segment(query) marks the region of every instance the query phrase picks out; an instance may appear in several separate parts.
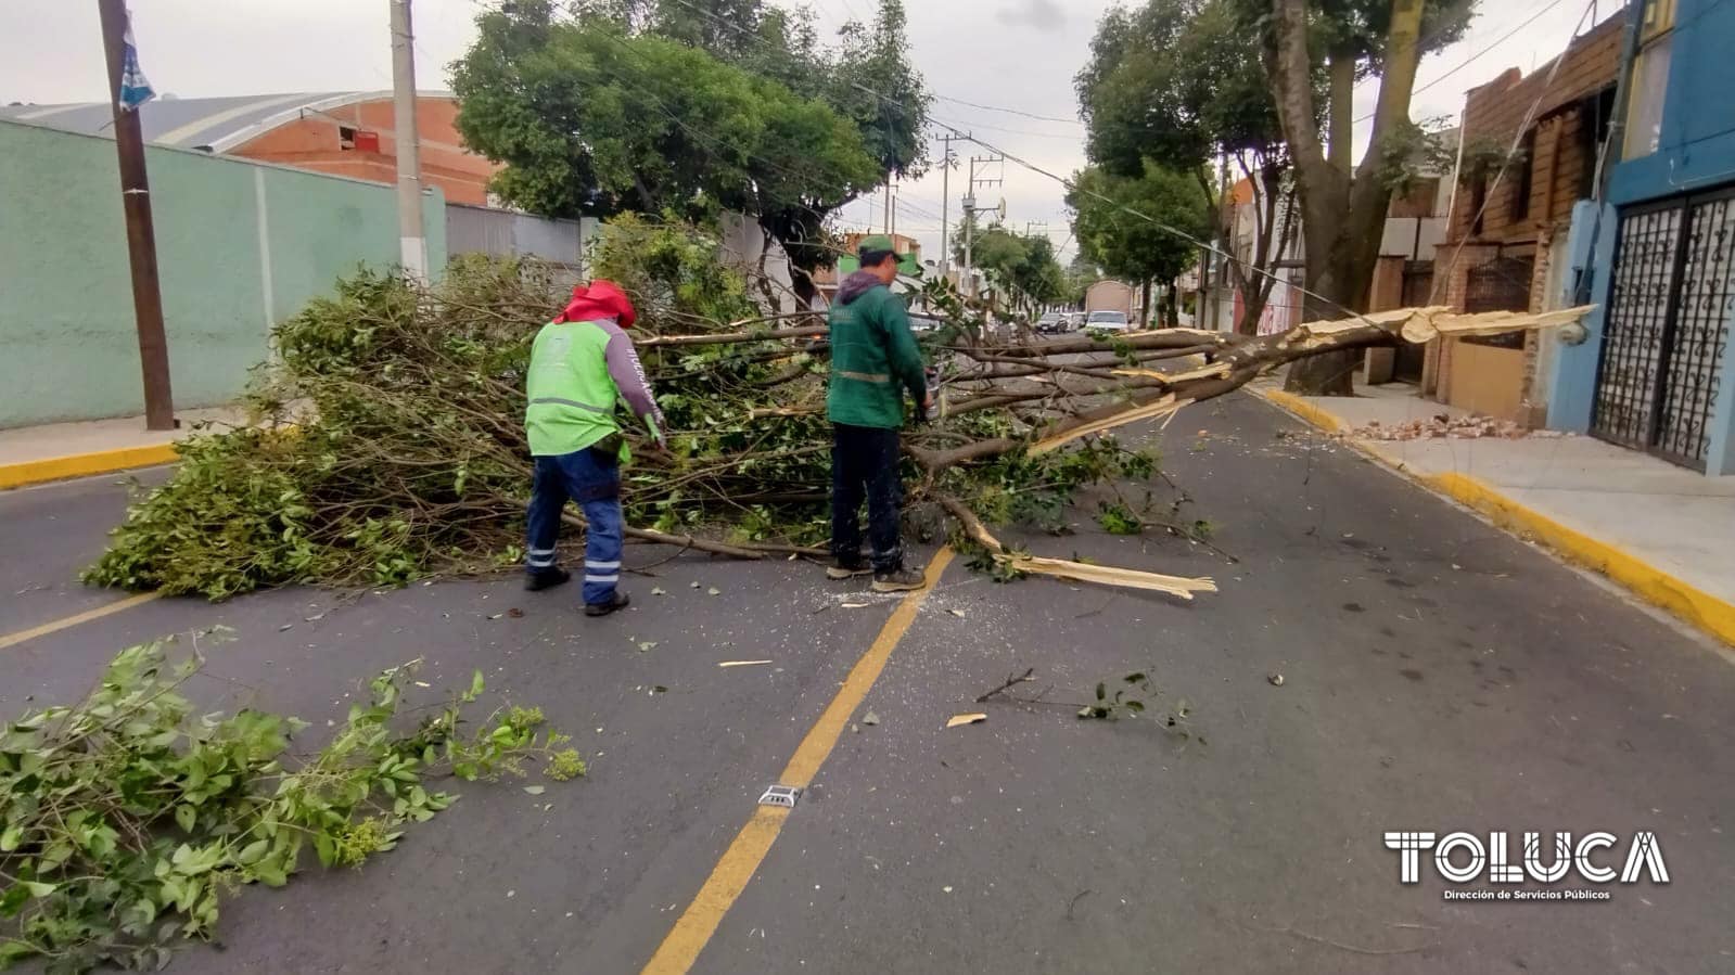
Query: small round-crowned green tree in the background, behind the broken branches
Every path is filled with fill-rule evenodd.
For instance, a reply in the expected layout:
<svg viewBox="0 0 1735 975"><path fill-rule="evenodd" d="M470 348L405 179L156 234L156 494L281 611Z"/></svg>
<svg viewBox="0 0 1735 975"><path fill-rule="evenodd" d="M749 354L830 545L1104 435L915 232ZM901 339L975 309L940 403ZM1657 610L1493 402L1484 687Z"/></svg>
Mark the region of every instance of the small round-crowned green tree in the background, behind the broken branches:
<svg viewBox="0 0 1735 975"><path fill-rule="evenodd" d="M1067 206L1072 208L1072 232L1079 241L1079 255L1116 278L1138 281L1143 286L1147 314L1150 281L1166 283L1166 324L1178 324L1175 279L1192 265L1197 248L1128 210L1161 220L1188 236L1206 236L1211 217L1194 186L1194 177L1149 161L1136 179L1093 167L1072 177Z"/></svg>

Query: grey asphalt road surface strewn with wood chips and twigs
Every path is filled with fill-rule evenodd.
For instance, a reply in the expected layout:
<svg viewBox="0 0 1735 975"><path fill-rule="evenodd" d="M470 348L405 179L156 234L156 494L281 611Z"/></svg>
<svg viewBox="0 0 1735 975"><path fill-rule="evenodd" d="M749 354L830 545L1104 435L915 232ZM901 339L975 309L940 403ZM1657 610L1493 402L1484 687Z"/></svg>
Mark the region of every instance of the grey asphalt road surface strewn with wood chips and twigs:
<svg viewBox="0 0 1735 975"><path fill-rule="evenodd" d="M1031 548L1221 592L996 585L954 564L694 972L1735 970L1726 656L1249 397L1180 415L1162 446L1239 562L1112 538L1088 512ZM0 635L115 599L68 579L121 503L108 481L0 494ZM241 892L222 947L174 970L632 973L895 605L805 564L654 571L606 621L514 579L149 602L0 651L0 713L213 623L236 638L194 694L316 729L382 666L425 659L429 694L479 666L574 732L588 779L465 786L361 871ZM734 659L772 663L717 666ZM1015 692L1041 703L975 703L1027 668ZM1074 715L1129 671L1162 689L1145 717ZM1187 737L1157 720L1182 699ZM1671 883L1444 900L1456 885L1428 862L1402 885L1383 845L1508 831L1516 860L1527 829L1614 833L1615 867L1655 831Z"/></svg>

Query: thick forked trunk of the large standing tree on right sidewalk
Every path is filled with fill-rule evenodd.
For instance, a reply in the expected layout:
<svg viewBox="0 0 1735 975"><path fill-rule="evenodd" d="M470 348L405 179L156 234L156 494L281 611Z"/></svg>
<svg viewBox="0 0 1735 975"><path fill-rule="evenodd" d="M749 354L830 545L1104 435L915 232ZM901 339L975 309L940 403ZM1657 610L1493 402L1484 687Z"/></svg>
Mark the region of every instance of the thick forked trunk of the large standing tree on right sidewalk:
<svg viewBox="0 0 1735 975"><path fill-rule="evenodd" d="M1386 137L1409 121L1411 88L1416 83L1421 0L1391 0L1391 26L1379 80L1379 104L1367 154L1355 168L1332 165L1319 137L1313 106L1313 62L1306 49L1306 0L1272 0L1277 45L1268 59L1277 94L1277 116L1294 156L1296 193L1301 196L1301 227L1306 253L1305 317L1339 317L1367 307L1367 288L1379 258L1391 189L1381 173ZM1334 78L1336 82L1336 78ZM1353 73L1350 76L1353 87ZM1346 99L1345 99L1346 101ZM1336 106L1332 106L1336 116ZM1353 115L1353 113L1352 113ZM1348 125L1345 125L1348 128ZM1332 156L1338 154L1332 139ZM1357 352L1331 352L1301 359L1289 368L1284 389L1312 396L1350 396Z"/></svg>

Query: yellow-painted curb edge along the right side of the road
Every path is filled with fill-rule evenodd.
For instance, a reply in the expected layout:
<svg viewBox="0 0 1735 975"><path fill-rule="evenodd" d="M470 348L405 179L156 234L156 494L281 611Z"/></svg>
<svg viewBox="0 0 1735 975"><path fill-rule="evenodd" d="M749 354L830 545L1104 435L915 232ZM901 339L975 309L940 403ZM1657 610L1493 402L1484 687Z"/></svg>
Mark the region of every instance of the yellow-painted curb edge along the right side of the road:
<svg viewBox="0 0 1735 975"><path fill-rule="evenodd" d="M1343 422L1319 406L1282 390L1253 390L1272 406L1293 413L1300 420L1312 423L1329 434L1343 430ZM1496 527L1535 541L1549 548L1560 559L1598 573L1645 602L1667 609L1686 623L1699 626L1728 645L1735 645L1735 604L1725 602L1643 559L1615 548L1607 541L1591 538L1577 529L1570 529L1555 519L1530 508L1497 488L1456 472L1416 474L1393 463L1379 451L1359 441L1345 441L1364 456L1383 467L1402 474L1409 481L1445 494L1466 508L1487 517Z"/></svg>

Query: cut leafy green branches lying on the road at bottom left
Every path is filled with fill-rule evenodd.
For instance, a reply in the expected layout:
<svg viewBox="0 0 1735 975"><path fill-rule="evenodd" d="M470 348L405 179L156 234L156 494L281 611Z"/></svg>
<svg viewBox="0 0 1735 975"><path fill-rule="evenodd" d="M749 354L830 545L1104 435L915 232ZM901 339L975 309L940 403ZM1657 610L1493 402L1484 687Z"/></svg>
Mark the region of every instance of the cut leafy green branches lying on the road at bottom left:
<svg viewBox="0 0 1735 975"><path fill-rule="evenodd" d="M522 777L533 763L555 781L585 774L536 708L501 708L467 730L481 671L399 730L420 661L390 668L330 744L297 756L305 722L194 713L182 685L203 656L194 645L172 663L167 647L121 651L78 704L0 729L0 968L156 970L177 942L210 939L241 885L288 883L309 847L324 867L394 848L456 798L430 791L432 777Z"/></svg>

